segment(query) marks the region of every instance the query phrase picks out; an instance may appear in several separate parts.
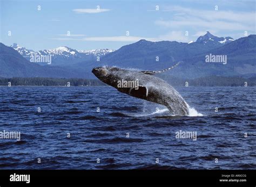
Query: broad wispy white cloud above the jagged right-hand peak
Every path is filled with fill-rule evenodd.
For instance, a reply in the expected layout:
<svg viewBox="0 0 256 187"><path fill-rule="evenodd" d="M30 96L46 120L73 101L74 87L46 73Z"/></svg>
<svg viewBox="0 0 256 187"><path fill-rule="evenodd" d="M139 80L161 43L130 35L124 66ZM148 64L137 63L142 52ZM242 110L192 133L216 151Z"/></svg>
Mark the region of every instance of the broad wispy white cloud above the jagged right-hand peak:
<svg viewBox="0 0 256 187"><path fill-rule="evenodd" d="M199 10L188 9L181 6L173 6L165 11L171 11L174 16L171 20L159 19L155 24L179 28L196 28L197 30L229 30L229 31L254 31L255 30L255 12L233 12L221 10ZM184 15L176 13L183 12ZM255 32L255 31L254 31Z"/></svg>

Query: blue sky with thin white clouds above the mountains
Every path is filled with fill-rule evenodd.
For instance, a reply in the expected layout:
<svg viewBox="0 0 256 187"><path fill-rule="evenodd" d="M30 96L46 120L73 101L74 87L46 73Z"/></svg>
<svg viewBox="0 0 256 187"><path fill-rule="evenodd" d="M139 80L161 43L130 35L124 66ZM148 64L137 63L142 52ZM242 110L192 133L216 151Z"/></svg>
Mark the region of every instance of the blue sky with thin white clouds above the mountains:
<svg viewBox="0 0 256 187"><path fill-rule="evenodd" d="M0 0L0 42L39 51L118 49L140 39L195 41L206 31L256 34L255 0Z"/></svg>

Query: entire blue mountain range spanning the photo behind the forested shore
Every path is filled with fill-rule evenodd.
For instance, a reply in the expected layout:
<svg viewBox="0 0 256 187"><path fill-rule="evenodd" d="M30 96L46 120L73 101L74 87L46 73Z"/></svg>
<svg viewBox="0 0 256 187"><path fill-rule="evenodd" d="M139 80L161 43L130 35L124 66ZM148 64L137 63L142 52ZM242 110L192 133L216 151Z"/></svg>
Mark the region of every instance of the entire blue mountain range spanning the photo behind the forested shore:
<svg viewBox="0 0 256 187"><path fill-rule="evenodd" d="M91 73L93 67L161 70L173 66L178 61L181 61L179 66L166 71L163 76L186 79L212 75L256 75L256 35L234 40L231 37L216 37L207 32L194 42L139 40L116 51L78 51L69 47L58 47L38 52L52 56L52 64L45 66L29 62L28 57L34 52L32 50L17 44L11 47L1 44L0 48L0 77L95 78ZM227 63L207 63L207 55L226 55ZM100 61L96 60L97 56L100 56Z"/></svg>

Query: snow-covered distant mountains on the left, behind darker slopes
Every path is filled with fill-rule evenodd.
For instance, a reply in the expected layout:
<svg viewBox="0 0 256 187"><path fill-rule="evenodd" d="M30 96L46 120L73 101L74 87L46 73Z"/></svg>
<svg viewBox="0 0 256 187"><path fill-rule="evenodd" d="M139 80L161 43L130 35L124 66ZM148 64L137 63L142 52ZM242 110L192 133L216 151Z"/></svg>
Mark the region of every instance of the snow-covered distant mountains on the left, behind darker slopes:
<svg viewBox="0 0 256 187"><path fill-rule="evenodd" d="M19 54L30 60L31 55L51 55L53 65L70 65L78 62L83 62L87 60L95 60L97 56L104 56L113 52L113 49L93 49L93 50L82 50L78 51L66 46L60 46L53 49L44 49L38 52L28 50L25 47L20 47L18 44L11 45ZM43 63L41 63L43 64Z"/></svg>

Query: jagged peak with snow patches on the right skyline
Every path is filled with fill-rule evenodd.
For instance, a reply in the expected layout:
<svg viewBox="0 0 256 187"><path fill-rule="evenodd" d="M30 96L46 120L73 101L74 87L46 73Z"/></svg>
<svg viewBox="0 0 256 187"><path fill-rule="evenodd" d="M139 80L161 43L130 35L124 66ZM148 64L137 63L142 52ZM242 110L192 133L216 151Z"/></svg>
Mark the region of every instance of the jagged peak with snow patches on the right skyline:
<svg viewBox="0 0 256 187"><path fill-rule="evenodd" d="M201 35L196 42L206 44L207 42L219 42L220 44L228 44L234 41L231 37L216 37L215 35L211 34L209 31L205 35Z"/></svg>

